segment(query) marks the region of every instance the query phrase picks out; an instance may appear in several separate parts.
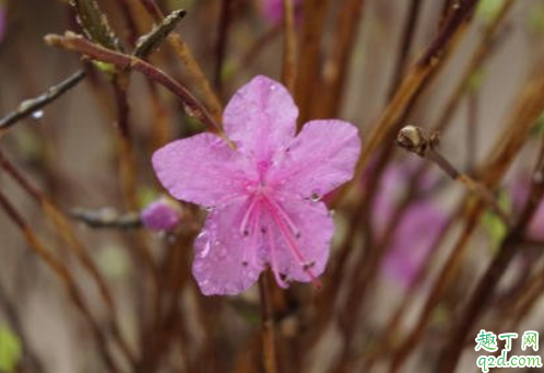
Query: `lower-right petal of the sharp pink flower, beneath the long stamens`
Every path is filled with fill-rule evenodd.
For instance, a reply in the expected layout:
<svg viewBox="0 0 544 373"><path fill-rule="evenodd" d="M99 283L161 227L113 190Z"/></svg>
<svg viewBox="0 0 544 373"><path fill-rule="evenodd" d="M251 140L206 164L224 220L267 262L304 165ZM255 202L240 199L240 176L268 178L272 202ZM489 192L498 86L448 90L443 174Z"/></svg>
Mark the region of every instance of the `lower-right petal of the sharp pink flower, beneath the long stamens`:
<svg viewBox="0 0 544 373"><path fill-rule="evenodd" d="M327 207L301 198L272 203L275 207L269 207L263 214L269 237L273 241L268 243L268 261L272 270L287 280L314 281L314 277L324 270L334 231Z"/></svg>

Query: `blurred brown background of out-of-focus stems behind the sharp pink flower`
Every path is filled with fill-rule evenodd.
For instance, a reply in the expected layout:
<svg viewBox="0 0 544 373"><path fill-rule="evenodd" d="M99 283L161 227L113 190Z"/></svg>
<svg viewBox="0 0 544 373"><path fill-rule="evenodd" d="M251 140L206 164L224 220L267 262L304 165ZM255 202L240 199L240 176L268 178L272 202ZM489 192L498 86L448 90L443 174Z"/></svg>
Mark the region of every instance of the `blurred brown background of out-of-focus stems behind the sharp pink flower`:
<svg viewBox="0 0 544 373"><path fill-rule="evenodd" d="M126 53L155 22L146 1L97 3ZM222 105L256 74L282 79L281 3L156 1L165 14L187 11L174 34ZM300 88L304 80L295 84L297 103L304 97L303 120L348 120L360 129L365 147L409 67L440 32L448 7L458 3L462 1L294 1L297 58L314 60L317 67L315 86ZM304 37L308 14L319 18L319 11L308 11L311 7L323 10L316 21L317 49L305 47L310 43ZM356 10L356 16L350 16L350 10ZM184 113L172 93L133 72L125 95L130 132L123 132L123 94L116 93L115 73L44 42L47 34L82 33L75 14L62 0L0 0L0 117L78 70L86 73L69 92L0 135L2 159L39 190L39 197L26 193L5 164L0 172L2 194L70 272L67 280L51 270L28 234L0 212L0 372L263 371L257 289L235 298L204 298L190 273L192 240L205 213L168 201L180 219L175 228L155 232L140 226L141 211L166 198L151 167L152 152L205 128ZM402 125L441 128L441 154L477 179L517 113L520 92L539 71L544 73L544 1L482 0L461 27L453 46L437 57L439 66ZM352 43L340 43L345 32ZM345 63L338 62L339 54ZM165 40L150 62L208 103L201 77L194 77L182 56ZM310 65L297 65L298 77L307 75L304 69ZM534 121L507 175L493 187L512 217L527 198L543 131L544 123ZM403 349L402 340L422 317L463 230L458 211L469 202L462 183L416 154L390 149L388 161L380 162L392 143L389 139L374 153L371 164L352 182L352 194L334 206L336 232L324 289L294 284L286 293L272 291L280 372L438 372L462 305L508 232L492 210L482 211L462 260L425 317L425 328ZM362 197L367 203L360 207L358 195L371 196ZM66 217L70 234L96 267L115 313L90 276L90 266L75 254L78 245L55 224L49 202ZM93 225L95 220L105 226ZM458 372L478 371L475 362L482 353L474 352L473 340L481 328L520 336L523 330L544 330L543 208L528 231L523 253L512 259L465 340ZM84 307L78 306L80 298ZM392 368L394 359L399 366Z"/></svg>

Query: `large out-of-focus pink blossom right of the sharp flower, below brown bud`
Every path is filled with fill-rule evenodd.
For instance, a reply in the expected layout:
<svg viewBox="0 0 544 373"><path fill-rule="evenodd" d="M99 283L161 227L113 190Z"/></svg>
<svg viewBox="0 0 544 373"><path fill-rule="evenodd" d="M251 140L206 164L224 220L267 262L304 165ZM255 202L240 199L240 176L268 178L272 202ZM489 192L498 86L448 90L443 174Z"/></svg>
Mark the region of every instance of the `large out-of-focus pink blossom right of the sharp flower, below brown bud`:
<svg viewBox="0 0 544 373"><path fill-rule="evenodd" d="M414 170L407 166L391 166L386 171L379 193L372 206L378 235L383 237L399 207L400 196L405 191ZM425 175L419 188L428 190L436 183L431 175ZM422 269L435 241L447 223L447 217L428 199L421 199L406 208L392 236L382 263L383 273L400 287L409 288Z"/></svg>

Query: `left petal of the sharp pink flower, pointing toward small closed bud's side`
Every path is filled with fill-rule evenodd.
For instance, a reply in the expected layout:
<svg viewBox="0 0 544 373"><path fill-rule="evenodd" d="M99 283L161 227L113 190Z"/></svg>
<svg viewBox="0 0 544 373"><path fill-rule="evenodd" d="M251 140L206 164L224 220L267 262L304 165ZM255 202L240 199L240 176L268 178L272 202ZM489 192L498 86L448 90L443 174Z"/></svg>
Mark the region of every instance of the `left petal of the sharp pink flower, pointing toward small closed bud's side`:
<svg viewBox="0 0 544 373"><path fill-rule="evenodd" d="M209 207L240 195L246 179L241 162L211 133L170 142L153 154L157 177L175 198Z"/></svg>

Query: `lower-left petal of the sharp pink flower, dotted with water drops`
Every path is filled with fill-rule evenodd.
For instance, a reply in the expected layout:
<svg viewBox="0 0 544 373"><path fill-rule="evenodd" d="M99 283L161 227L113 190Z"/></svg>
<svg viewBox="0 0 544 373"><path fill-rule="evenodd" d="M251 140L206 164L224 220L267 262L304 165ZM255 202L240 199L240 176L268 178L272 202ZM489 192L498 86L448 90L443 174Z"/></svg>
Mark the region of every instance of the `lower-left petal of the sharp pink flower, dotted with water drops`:
<svg viewBox="0 0 544 373"><path fill-rule="evenodd" d="M194 241L192 273L204 295L238 294L263 270L259 230L247 236L239 230L247 209L247 200L237 200L212 210Z"/></svg>

